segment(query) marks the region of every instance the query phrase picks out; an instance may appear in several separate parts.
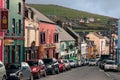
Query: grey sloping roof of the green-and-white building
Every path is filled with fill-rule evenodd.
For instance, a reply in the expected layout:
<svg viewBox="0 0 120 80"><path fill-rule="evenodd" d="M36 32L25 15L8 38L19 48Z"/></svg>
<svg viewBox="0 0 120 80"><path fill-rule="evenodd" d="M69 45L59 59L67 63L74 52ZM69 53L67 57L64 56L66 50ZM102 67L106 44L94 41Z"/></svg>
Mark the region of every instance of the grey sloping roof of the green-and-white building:
<svg viewBox="0 0 120 80"><path fill-rule="evenodd" d="M75 39L70 36L64 29L56 26L57 32L59 33L60 41L75 41Z"/></svg>

